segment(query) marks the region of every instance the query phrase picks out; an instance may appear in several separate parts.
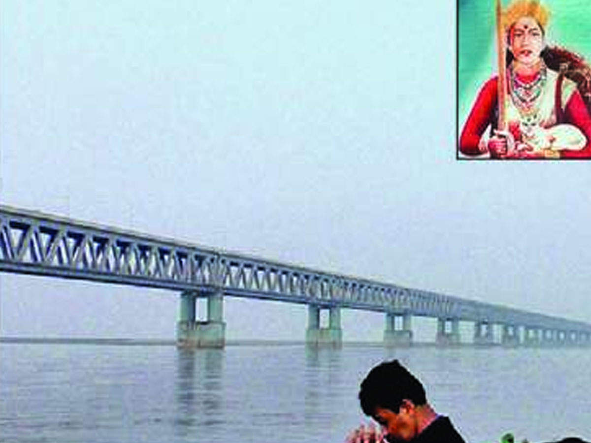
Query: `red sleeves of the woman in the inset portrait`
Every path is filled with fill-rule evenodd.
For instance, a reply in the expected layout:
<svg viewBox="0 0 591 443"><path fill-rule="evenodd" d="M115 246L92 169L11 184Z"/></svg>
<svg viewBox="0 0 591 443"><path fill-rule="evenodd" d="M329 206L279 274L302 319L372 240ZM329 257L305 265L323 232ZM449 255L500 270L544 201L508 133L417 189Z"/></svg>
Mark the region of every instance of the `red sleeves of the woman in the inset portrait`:
<svg viewBox="0 0 591 443"><path fill-rule="evenodd" d="M497 76L488 80L480 90L476 102L460 136L460 152L482 154L478 148L480 137L495 120L497 107ZM562 123L570 123L583 132L587 143L583 149L560 149L560 158L591 158L591 116L578 90L574 90L562 111Z"/></svg>

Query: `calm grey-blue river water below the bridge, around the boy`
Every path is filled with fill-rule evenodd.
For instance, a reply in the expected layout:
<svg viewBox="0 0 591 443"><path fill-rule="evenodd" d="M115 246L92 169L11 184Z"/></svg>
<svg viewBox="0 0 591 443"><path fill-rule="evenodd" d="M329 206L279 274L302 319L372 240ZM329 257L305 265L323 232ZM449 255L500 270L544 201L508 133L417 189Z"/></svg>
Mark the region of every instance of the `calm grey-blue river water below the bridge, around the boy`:
<svg viewBox="0 0 591 443"><path fill-rule="evenodd" d="M0 441L342 442L391 358L467 441L591 438L589 349L0 344Z"/></svg>

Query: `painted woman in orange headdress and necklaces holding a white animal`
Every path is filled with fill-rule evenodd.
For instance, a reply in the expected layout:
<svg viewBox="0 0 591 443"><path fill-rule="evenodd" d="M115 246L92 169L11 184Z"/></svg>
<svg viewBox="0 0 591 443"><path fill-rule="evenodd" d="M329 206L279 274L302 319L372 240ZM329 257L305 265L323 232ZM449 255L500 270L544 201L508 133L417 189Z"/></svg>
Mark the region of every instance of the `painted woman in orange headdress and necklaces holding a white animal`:
<svg viewBox="0 0 591 443"><path fill-rule="evenodd" d="M495 76L480 90L466 120L459 141L463 154L591 158L591 69L576 54L546 45L548 17L547 8L535 0L517 0L502 14L506 126L496 127ZM491 136L486 140L482 135L489 126Z"/></svg>

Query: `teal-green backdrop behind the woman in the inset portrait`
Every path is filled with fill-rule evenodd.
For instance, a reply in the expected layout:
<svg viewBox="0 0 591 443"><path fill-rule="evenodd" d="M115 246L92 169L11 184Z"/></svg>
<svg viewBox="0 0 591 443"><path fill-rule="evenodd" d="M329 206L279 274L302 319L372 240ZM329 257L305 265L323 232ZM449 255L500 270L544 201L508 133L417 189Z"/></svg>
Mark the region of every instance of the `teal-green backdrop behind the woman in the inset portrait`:
<svg viewBox="0 0 591 443"><path fill-rule="evenodd" d="M509 1L502 0L505 8ZM549 45L557 44L591 59L591 0L547 0ZM458 0L459 131L482 84L496 74L495 1Z"/></svg>

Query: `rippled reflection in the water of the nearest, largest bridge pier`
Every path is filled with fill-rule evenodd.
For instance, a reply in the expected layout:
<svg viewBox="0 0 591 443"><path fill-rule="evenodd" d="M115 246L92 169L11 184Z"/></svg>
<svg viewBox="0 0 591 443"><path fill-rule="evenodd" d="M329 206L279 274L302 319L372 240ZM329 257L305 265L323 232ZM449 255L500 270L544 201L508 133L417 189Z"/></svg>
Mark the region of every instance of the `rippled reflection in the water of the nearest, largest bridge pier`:
<svg viewBox="0 0 591 443"><path fill-rule="evenodd" d="M210 436L211 426L223 423L224 353L221 349L178 349L176 381L177 435Z"/></svg>

